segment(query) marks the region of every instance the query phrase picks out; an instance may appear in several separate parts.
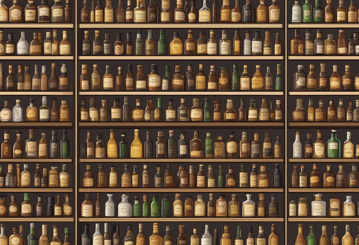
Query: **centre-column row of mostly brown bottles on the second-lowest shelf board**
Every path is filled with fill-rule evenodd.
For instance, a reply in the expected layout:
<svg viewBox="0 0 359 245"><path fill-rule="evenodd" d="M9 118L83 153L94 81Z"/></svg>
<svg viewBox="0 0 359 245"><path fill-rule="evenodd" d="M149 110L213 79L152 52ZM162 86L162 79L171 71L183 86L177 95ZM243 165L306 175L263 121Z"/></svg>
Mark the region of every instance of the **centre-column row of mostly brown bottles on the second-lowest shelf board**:
<svg viewBox="0 0 359 245"><path fill-rule="evenodd" d="M246 164L241 164L241 172L238 174L238 184L236 174L233 173L233 166L228 167L228 173L223 173L223 166L219 165L219 173L216 176L213 173L212 165L208 165L208 174L204 172L203 164L199 164L199 172L194 173L194 166L190 165L190 172L187 173L186 166L178 167L177 175L175 176L170 169L170 164L166 164L165 173L161 173L161 165L157 165L156 174L150 177L148 171L148 165L143 165L143 172L140 174L137 172L137 165L134 165L134 171L131 174L129 171L129 164L125 163L125 169L121 176L117 175L115 165L111 165L111 171L108 176L104 171L104 165L98 165L98 173L95 178L91 172L91 165L86 165L86 172L82 176L82 186L91 187L143 187L150 188L154 186L156 188L204 188L204 187L251 187L251 188L279 188L283 185L283 177L279 171L279 164L275 165L275 172L273 174L273 181L269 173L266 171L266 166L261 165L259 173L257 172L256 164L252 164L252 171L248 174L246 171ZM1 176L1 175L0 175ZM108 183L107 183L108 179ZM95 181L96 180L96 181ZM150 184L150 181L152 182ZM273 182L273 183L272 183Z"/></svg>

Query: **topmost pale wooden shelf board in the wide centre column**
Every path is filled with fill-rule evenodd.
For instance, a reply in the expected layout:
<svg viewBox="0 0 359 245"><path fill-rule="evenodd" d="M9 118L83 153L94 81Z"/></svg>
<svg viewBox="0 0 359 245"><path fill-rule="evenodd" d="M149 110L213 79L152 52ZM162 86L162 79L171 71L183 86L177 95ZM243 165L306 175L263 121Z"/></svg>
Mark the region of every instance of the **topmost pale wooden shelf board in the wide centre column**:
<svg viewBox="0 0 359 245"><path fill-rule="evenodd" d="M283 28L281 23L81 23L79 28Z"/></svg>

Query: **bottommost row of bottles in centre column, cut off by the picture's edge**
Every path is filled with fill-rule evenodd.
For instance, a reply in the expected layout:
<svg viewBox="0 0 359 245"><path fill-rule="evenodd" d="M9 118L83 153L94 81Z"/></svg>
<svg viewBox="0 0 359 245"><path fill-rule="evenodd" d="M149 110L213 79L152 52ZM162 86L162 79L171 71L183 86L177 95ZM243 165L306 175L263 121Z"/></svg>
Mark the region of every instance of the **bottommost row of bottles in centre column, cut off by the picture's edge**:
<svg viewBox="0 0 359 245"><path fill-rule="evenodd" d="M90 245L90 244L113 244L120 245L120 226L111 225L110 232L108 231L108 223L104 223L104 235L101 234L100 224L95 225L95 232L92 235L89 230L89 224L84 224L84 233L81 234L81 245ZM178 225L179 234L176 239L173 239L171 235L171 227L166 226L166 235L162 237L159 234L158 223L153 223L153 233L149 236L149 243L154 245L225 245L225 244L267 244L276 245L279 244L279 235L275 231L275 224L272 224L271 234L267 237L264 235L264 226L258 227L258 236L253 237L253 227L250 226L248 229L248 238L246 240L242 237L242 226L237 225L237 237L232 241L229 234L229 225L222 225L222 237L218 234L218 229L214 229L214 234L212 235L209 231L209 225L205 225L205 231L202 236L197 234L197 228L193 228L193 234L188 237L185 234L186 225ZM127 234L123 237L123 244L136 244L144 245L146 244L146 235L149 233L147 230L143 229L143 224L139 224L139 232L134 236L132 233L132 225L127 225ZM126 233L126 232L125 232ZM256 242L256 243L255 243Z"/></svg>

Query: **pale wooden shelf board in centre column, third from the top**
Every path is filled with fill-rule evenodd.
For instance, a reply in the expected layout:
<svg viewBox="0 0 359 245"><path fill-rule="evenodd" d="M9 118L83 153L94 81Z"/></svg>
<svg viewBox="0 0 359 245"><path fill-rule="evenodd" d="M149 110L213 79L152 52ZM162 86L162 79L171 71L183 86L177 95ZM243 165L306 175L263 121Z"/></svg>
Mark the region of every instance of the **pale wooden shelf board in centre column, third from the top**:
<svg viewBox="0 0 359 245"><path fill-rule="evenodd" d="M358 92L359 94L359 92ZM82 91L79 95L284 95L280 91Z"/></svg>

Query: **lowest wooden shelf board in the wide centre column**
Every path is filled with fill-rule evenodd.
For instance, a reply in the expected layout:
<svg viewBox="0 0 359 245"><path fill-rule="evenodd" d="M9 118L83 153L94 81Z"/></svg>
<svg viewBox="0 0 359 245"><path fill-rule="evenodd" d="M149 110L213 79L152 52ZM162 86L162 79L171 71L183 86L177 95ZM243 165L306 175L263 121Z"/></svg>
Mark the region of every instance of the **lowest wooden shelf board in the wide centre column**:
<svg viewBox="0 0 359 245"><path fill-rule="evenodd" d="M359 220L359 218L358 218ZM284 218L274 218L274 217L268 217L268 218L231 218L231 217L199 217L199 218L182 218L182 217L168 217L168 218L161 218L161 217L157 217L157 218L145 218L145 217L141 217L141 218L134 218L134 217L129 217L129 218L122 218L122 217L106 217L106 218L79 218L79 222L146 222L146 221L150 221L150 222L158 222L158 221L163 221L163 222L201 222L201 221L206 221L206 222L283 222Z"/></svg>

